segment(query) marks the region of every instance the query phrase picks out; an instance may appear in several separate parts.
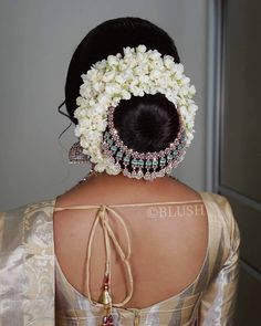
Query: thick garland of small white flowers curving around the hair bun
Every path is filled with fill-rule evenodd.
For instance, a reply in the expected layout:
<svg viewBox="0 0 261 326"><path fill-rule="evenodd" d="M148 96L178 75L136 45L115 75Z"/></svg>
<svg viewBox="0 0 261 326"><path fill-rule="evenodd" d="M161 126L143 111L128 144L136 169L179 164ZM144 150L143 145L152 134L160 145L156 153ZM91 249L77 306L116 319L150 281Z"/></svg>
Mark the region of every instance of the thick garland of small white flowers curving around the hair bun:
<svg viewBox="0 0 261 326"><path fill-rule="evenodd" d="M80 138L83 153L96 164L95 171L118 173L102 151L103 133L107 126L108 107L116 107L121 99L129 99L132 95L165 94L181 115L186 147L190 145L198 109L192 99L196 90L185 76L182 64L175 63L173 56L161 56L157 50L147 51L145 45L128 46L124 48L124 55L108 55L107 60L96 62L81 77L81 96L76 98L77 108L74 112L79 122L75 136Z"/></svg>

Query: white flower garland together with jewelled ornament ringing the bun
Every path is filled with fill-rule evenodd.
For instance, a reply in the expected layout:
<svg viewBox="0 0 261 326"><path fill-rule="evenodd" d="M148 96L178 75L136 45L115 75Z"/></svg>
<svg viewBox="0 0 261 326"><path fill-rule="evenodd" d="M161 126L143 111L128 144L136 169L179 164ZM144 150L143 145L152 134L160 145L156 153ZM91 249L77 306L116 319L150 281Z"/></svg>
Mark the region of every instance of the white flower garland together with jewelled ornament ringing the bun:
<svg viewBox="0 0 261 326"><path fill-rule="evenodd" d="M117 175L123 170L127 177L153 180L170 173L184 159L194 138L198 106L192 99L195 86L184 74L182 64L145 45L128 46L123 55L117 53L96 62L82 80L74 112L79 122L75 136L80 138L83 155L95 164L95 171ZM180 123L178 136L159 153L134 151L118 138L113 112L121 99L156 93L175 104Z"/></svg>

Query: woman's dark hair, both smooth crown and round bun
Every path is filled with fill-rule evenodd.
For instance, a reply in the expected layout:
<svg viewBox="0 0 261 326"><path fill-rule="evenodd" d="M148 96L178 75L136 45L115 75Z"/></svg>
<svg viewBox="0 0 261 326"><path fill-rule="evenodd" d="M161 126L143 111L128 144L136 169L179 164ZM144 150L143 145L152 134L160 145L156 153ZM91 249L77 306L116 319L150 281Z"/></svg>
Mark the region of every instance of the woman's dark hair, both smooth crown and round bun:
<svg viewBox="0 0 261 326"><path fill-rule="evenodd" d="M171 55L180 63L173 39L159 27L140 18L117 18L107 20L87 33L73 53L65 83L65 105L71 120L77 124L73 114L76 97L92 64L109 54L123 54L123 48L146 45L163 55ZM158 151L173 143L179 130L179 117L175 105L165 95L132 96L121 101L114 114L115 128L121 139L137 151Z"/></svg>

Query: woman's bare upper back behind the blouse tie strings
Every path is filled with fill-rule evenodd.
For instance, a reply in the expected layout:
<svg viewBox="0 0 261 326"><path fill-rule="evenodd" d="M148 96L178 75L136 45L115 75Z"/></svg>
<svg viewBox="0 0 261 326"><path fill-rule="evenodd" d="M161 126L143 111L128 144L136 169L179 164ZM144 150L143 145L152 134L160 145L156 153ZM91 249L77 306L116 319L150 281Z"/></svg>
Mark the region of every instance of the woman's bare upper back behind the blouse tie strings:
<svg viewBox="0 0 261 326"><path fill-rule="evenodd" d="M171 178L137 182L118 177L91 177L59 197L56 207L201 200L197 191ZM134 293L125 307L143 308L166 299L187 287L198 275L206 255L208 220L202 203L189 207L179 203L115 208L127 225L132 244L129 263ZM81 293L95 213L95 209L54 213L55 253L67 281ZM113 217L109 222L119 243L126 249L123 227ZM100 225L91 261L91 293L94 301L101 295L104 269L105 246ZM126 296L126 271L113 248L112 292L114 302L121 302Z"/></svg>

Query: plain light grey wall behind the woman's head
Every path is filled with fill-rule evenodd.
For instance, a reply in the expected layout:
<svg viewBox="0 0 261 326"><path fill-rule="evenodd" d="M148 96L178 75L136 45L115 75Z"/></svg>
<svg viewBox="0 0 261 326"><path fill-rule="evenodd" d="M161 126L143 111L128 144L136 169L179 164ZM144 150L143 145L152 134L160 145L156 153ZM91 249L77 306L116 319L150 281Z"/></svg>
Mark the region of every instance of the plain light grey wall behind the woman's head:
<svg viewBox="0 0 261 326"><path fill-rule="evenodd" d="M150 20L176 42L199 111L174 175L206 189L207 0L1 0L0 210L51 199L87 173L90 166L67 164L76 138L71 126L58 140L69 120L56 108L77 44L98 23L126 15Z"/></svg>

